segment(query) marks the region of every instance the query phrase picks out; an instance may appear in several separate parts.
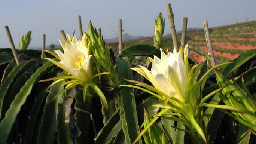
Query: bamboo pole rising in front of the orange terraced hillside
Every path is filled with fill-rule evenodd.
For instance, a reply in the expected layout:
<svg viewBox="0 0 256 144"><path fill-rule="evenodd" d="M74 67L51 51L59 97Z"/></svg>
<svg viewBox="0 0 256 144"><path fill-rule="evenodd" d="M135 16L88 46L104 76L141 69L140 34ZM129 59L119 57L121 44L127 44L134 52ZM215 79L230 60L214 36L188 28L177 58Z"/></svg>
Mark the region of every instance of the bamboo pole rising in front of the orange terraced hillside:
<svg viewBox="0 0 256 144"><path fill-rule="evenodd" d="M213 53L213 46L211 45L211 37L210 37L208 22L204 21L203 24L204 24L205 39L206 39L208 51L210 54L211 66L214 67L216 65L216 62L215 62L214 53Z"/></svg>

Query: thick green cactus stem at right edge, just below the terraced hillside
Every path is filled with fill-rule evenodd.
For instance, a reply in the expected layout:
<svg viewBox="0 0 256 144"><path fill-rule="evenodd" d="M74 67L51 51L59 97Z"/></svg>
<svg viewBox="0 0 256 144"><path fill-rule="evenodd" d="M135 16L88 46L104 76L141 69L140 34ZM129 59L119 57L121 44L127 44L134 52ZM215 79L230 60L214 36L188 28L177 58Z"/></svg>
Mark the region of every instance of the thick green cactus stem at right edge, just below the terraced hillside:
<svg viewBox="0 0 256 144"><path fill-rule="evenodd" d="M245 62L247 62L249 59L256 56L256 49L248 50L245 53L238 56L236 59L233 60L235 63L231 63L226 65L225 68L223 68L222 73L225 77L228 77L233 71L235 71L238 67L243 65Z"/></svg>

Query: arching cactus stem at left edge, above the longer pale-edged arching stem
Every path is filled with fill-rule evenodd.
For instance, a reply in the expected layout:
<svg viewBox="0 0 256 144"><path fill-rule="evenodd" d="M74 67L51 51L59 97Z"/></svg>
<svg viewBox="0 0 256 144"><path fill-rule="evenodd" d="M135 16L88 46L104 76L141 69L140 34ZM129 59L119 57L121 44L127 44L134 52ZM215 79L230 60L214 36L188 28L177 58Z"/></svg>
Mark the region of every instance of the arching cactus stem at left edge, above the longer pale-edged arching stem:
<svg viewBox="0 0 256 144"><path fill-rule="evenodd" d="M6 77L4 82L1 85L0 88L0 116L1 116L1 111L3 107L3 101L6 99L6 95L9 93L10 89L12 88L13 83L15 80L22 74L24 73L31 65L35 64L35 60L30 60L30 61L24 61L21 62L17 67L15 67L12 72Z"/></svg>

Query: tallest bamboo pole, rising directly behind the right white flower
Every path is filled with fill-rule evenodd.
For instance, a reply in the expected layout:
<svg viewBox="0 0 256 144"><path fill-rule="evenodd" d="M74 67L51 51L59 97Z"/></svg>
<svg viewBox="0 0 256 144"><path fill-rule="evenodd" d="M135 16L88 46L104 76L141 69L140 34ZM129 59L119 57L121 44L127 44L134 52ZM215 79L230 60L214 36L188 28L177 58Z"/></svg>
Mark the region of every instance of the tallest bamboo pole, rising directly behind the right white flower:
<svg viewBox="0 0 256 144"><path fill-rule="evenodd" d="M168 19L169 19L170 26L171 26L171 37L173 39L173 46L178 51L179 47L178 47L176 30L175 30L174 19L173 19L174 15L173 15L173 10L171 9L170 3L166 4L166 9L167 9L167 15L168 15Z"/></svg>

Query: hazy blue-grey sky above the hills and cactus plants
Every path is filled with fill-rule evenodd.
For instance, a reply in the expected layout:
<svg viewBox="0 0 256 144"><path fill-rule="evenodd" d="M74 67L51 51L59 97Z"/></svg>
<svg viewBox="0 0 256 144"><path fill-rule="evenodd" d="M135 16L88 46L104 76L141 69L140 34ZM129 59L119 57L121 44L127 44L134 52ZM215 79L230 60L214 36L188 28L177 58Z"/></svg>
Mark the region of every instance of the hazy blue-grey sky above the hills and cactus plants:
<svg viewBox="0 0 256 144"><path fill-rule="evenodd" d="M27 31L32 30L30 46L58 44L59 31L79 36L77 16L82 17L83 30L91 20L101 27L105 39L116 37L118 19L122 18L124 33L133 36L153 36L153 25L159 12L165 18L165 34L170 33L165 4L171 3L176 31L182 29L183 17L188 28L203 28L256 20L256 0L1 0L0 48L9 47L4 29L9 26L16 48Z"/></svg>

